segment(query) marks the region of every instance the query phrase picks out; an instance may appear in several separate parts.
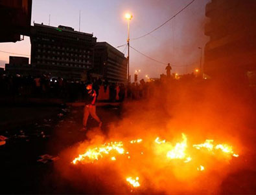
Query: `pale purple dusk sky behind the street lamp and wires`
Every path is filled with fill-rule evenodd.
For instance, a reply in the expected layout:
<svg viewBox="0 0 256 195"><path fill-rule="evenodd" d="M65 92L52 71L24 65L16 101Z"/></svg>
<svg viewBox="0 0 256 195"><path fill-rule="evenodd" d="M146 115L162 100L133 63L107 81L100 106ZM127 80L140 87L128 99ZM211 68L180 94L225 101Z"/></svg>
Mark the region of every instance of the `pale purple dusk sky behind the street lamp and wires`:
<svg viewBox="0 0 256 195"><path fill-rule="evenodd" d="M51 26L65 25L79 30L79 11L81 12L81 32L93 33L97 41L106 41L113 46L126 43L127 21L124 14L133 15L130 22L130 45L146 56L163 63L170 63L172 72L191 73L200 65L200 49L208 37L204 36L205 5L209 0L196 0L152 34L143 36L175 15L191 0L33 0L31 25L44 23ZM121 52L125 46L118 48ZM30 39L17 43L0 43L0 51L30 55ZM126 50L127 55L127 50ZM0 67L5 67L9 56L0 52ZM139 79L148 74L159 77L165 73L166 65L152 61L130 49L130 74L141 69Z"/></svg>

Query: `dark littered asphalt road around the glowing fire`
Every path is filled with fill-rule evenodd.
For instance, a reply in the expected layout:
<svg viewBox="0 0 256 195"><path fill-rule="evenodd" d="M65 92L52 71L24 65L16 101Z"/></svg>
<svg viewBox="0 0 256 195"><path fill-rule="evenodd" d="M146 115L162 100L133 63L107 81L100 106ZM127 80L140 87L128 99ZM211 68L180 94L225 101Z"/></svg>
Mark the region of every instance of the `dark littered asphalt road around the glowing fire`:
<svg viewBox="0 0 256 195"><path fill-rule="evenodd" d="M20 114L20 118L26 118L25 123L1 129L0 135L8 138L5 145L0 146L1 194L163 194L154 189L130 192L127 187L94 177L89 168L84 170L88 171L88 180L86 176L83 178L80 169L69 166L62 152L89 139L86 132L80 132L83 107L17 108L23 112L22 109L30 113L31 120ZM15 108L12 110L14 114ZM107 135L110 123L117 123L122 118L122 107L98 107L97 114L103 121L100 132ZM32 118L33 115L37 117ZM97 129L97 125L90 118L88 131ZM42 156L45 154L49 156ZM246 158L241 159L246 163ZM253 165L251 161L247 163ZM111 169L97 171L111 174ZM76 179L64 176L65 172L73 172ZM233 172L222 182L220 194L255 194L255 176L253 169Z"/></svg>

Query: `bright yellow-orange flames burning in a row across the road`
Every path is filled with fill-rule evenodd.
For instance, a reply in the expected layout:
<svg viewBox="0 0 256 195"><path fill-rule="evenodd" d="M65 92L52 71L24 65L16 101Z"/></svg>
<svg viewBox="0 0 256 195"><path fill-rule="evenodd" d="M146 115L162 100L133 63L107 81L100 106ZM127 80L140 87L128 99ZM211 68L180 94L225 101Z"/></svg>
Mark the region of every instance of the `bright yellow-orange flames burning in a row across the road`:
<svg viewBox="0 0 256 195"><path fill-rule="evenodd" d="M235 154L233 152L233 147L227 144L214 144L213 139L206 139L204 143L201 144L188 144L187 136L185 134L182 135L182 140L178 143L170 143L170 141L165 141L165 139L160 139L157 137L153 140L146 140L146 147L145 145L134 144L134 143L142 143L143 139L133 139L131 141L111 141L110 143L104 143L100 147L89 148L87 149L84 154L78 155L77 158L73 159L71 163L76 165L78 162L82 163L93 163L99 159L103 159L104 156L110 155L111 161L115 161L118 163L121 161L119 165L126 166L128 165L129 169L132 171L138 171L139 168L134 168L133 161L142 161L147 157L150 156L150 163L152 158L152 163L154 162L153 158L156 159L157 163L161 161L161 163L166 163L163 166L169 166L170 161L182 160L181 163L187 163L187 166L190 166L189 169L191 170L205 170L203 165L196 165L196 163L204 163L202 161L202 154L207 154L205 152L201 152L202 154L197 154L197 150L205 150L210 152L212 156L219 155L219 152L223 152L228 156L239 157L239 154ZM149 145L148 145L149 143ZM152 147L150 147L152 145ZM116 158L117 155L123 155L124 158ZM135 156L134 156L135 155ZM143 157L141 157L141 155ZM145 157L144 157L145 156ZM223 158L223 156L220 156ZM166 159L166 160L165 160ZM124 161L122 161L124 160ZM193 161L191 163L191 161ZM178 163L177 165L180 165ZM176 166L176 165L175 165ZM128 167L124 167L124 171L127 171L125 175L128 174ZM139 187L139 178L136 177L135 179L132 177L127 177L126 181L132 187Z"/></svg>

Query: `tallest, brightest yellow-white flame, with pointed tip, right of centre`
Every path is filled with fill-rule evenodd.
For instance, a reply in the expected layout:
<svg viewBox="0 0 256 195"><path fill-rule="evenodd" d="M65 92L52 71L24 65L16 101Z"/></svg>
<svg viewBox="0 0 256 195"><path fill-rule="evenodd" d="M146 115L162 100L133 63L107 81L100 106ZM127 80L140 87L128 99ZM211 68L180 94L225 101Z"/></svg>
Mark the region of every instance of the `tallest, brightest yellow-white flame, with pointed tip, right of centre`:
<svg viewBox="0 0 256 195"><path fill-rule="evenodd" d="M185 150L187 149L187 137L182 134L183 141L181 143L176 143L174 149L167 152L167 158L170 159L183 159L186 157Z"/></svg>

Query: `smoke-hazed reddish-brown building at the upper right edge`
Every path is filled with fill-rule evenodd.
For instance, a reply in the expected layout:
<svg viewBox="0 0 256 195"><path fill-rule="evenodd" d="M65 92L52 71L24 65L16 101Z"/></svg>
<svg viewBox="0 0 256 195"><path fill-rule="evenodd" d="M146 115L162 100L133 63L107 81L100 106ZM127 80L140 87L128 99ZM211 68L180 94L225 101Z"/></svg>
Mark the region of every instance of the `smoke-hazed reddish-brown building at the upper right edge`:
<svg viewBox="0 0 256 195"><path fill-rule="evenodd" d="M205 7L204 72L246 81L256 70L256 1L212 0Z"/></svg>

